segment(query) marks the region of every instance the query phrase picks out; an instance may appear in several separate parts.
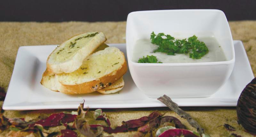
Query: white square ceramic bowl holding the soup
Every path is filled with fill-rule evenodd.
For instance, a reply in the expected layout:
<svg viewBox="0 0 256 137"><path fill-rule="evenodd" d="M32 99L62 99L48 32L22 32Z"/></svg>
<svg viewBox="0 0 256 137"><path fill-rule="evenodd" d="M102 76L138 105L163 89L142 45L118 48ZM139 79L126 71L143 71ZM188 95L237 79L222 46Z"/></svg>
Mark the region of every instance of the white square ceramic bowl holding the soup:
<svg viewBox="0 0 256 137"><path fill-rule="evenodd" d="M138 39L163 32L173 37L215 37L227 61L204 63L136 63L132 52ZM221 10L151 10L127 17L126 50L132 79L148 97L208 97L229 78L235 51L227 18Z"/></svg>

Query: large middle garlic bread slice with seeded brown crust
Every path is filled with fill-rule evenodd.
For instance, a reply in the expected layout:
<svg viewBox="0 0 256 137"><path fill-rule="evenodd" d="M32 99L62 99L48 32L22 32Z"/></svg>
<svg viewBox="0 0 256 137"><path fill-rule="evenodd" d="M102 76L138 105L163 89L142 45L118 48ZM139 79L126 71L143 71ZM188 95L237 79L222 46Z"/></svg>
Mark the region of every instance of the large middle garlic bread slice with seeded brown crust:
<svg viewBox="0 0 256 137"><path fill-rule="evenodd" d="M41 84L66 94L84 94L108 87L126 71L124 53L116 47L107 47L85 58L80 68L74 72L49 76L46 71ZM47 83L47 79L54 84Z"/></svg>

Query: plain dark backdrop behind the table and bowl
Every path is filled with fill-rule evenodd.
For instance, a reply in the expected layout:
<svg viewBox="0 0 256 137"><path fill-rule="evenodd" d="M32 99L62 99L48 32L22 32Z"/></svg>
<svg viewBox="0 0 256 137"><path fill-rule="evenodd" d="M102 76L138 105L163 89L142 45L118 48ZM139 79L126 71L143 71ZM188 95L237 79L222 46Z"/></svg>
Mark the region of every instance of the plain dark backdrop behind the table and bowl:
<svg viewBox="0 0 256 137"><path fill-rule="evenodd" d="M228 20L256 20L256 0L0 0L0 21L125 21L132 11L219 9Z"/></svg>

